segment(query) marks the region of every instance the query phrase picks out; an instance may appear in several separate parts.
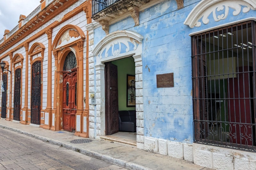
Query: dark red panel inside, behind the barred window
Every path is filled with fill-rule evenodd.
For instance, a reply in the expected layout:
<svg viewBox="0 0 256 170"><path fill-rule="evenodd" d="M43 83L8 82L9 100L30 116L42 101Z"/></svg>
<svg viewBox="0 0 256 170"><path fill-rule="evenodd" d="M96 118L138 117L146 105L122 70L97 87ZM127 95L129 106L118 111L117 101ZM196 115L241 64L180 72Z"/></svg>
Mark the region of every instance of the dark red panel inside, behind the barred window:
<svg viewBox="0 0 256 170"><path fill-rule="evenodd" d="M245 73L243 73L243 71ZM230 142L252 145L252 113L250 104L250 75L247 66L238 67L237 78L229 78L229 131ZM240 73L241 72L241 73ZM234 122L234 123L232 123Z"/></svg>

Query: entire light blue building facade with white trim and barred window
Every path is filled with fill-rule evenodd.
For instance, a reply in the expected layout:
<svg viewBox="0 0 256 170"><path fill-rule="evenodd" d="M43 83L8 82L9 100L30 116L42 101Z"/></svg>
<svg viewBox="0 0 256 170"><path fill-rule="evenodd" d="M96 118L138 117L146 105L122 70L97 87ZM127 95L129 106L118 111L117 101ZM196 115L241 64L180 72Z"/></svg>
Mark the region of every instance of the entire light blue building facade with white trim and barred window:
<svg viewBox="0 0 256 170"><path fill-rule="evenodd" d="M255 81L253 76L251 81L245 77L255 74L256 3L164 0L129 8L119 15L113 6L112 15L106 10L96 12L92 14L95 22L86 26L89 91L95 94L90 100L89 136L115 133L112 114L136 110L137 148L209 168L254 169ZM108 63L117 66L116 101L111 100L111 83L108 86ZM157 76L163 74L172 74L168 81L173 86L157 87L164 82ZM127 104L127 75L136 82L132 107ZM252 86L237 83L242 90L236 89L239 77Z"/></svg>

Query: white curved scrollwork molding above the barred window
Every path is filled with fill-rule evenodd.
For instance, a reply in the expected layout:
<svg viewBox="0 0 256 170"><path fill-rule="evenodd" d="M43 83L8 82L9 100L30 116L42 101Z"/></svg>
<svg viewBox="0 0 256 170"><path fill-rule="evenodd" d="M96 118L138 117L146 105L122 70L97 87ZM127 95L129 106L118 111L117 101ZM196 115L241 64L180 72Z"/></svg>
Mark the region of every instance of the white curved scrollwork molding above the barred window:
<svg viewBox="0 0 256 170"><path fill-rule="evenodd" d="M256 10L255 0L202 0L193 10L188 14L188 17L184 21L185 25L190 28L194 26L200 27L202 18L204 24L209 23L209 15L213 15L214 21L220 21L228 17L229 8L232 8L233 16L238 15L241 11L243 13L249 12L251 9ZM217 15L216 11L220 14ZM222 12L222 13L221 13Z"/></svg>

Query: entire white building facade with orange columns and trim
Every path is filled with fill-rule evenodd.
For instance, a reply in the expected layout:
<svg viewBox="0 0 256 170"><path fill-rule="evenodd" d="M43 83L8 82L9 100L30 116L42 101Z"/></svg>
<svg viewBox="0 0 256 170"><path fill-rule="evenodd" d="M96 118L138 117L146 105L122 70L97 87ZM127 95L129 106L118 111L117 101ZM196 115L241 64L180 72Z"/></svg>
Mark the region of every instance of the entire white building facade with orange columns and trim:
<svg viewBox="0 0 256 170"><path fill-rule="evenodd" d="M89 137L91 2L40 3L0 40L1 119Z"/></svg>

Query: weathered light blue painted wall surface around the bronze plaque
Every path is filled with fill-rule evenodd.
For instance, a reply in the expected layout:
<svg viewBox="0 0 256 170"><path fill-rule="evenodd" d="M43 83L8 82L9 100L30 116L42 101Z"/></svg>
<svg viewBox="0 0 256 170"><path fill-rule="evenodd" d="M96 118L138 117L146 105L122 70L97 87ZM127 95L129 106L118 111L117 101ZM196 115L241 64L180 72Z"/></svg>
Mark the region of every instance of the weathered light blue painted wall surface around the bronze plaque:
<svg viewBox="0 0 256 170"><path fill-rule="evenodd" d="M239 19L256 16L256 11L190 28L183 24L198 0L185 0L184 8L177 9L176 1L164 1L140 12L140 25L134 27L131 17L110 26L109 32L130 30L140 33L142 41L144 135L179 141L193 142L193 110L191 80L191 37L189 33L204 30ZM105 37L100 28L94 30L94 43ZM148 68L145 66L148 66ZM174 87L156 88L156 75L173 73Z"/></svg>

